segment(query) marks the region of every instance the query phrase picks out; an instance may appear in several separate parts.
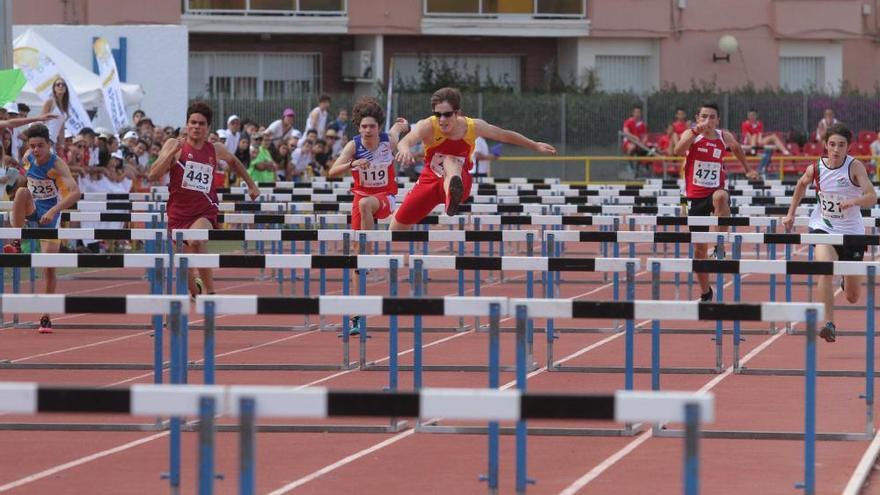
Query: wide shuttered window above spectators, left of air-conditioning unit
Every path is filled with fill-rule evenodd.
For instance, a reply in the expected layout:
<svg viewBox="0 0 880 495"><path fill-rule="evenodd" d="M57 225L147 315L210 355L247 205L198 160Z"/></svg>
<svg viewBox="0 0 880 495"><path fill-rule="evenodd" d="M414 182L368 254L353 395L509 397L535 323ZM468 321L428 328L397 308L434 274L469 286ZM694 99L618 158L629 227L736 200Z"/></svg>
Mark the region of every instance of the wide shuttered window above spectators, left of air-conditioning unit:
<svg viewBox="0 0 880 495"><path fill-rule="evenodd" d="M189 56L190 98L275 99L321 91L316 53L215 53Z"/></svg>

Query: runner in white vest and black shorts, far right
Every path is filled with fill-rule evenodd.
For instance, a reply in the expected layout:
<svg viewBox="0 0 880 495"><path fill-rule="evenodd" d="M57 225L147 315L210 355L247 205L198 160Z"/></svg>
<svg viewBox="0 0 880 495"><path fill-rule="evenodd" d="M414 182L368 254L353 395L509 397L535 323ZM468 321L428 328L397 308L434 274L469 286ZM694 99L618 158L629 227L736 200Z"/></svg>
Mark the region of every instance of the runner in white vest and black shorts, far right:
<svg viewBox="0 0 880 495"><path fill-rule="evenodd" d="M810 232L816 234L855 234L865 235L861 208L871 208L877 204L874 190L865 165L847 154L852 142L852 131L845 125L831 124L825 130L826 157L808 167L798 180L788 215L782 219L786 230L794 226L794 214L810 184L816 188L819 202L810 214ZM864 246L816 246L816 259L820 261L862 261ZM826 342L837 340L837 327L834 325L834 292L831 275L819 276L819 295L825 304L827 323L819 331ZM862 277L846 275L840 283L850 303L857 303L861 296Z"/></svg>

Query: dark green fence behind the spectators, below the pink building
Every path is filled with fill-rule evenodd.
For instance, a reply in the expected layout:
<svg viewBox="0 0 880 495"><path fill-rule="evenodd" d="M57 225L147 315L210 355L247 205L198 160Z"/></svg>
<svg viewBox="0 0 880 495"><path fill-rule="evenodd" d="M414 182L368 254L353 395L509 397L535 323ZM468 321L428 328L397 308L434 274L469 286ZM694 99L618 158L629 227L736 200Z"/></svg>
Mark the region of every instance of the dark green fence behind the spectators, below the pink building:
<svg viewBox="0 0 880 495"><path fill-rule="evenodd" d="M331 112L348 108L354 102L350 93L335 94ZM561 154L616 153L618 131L629 116L632 105L644 109L650 132L662 132L675 113L684 108L696 113L700 102L710 99L698 92L659 92L649 96L635 94L570 94L570 93L466 93L462 109L468 115L512 129L535 140L551 143ZM740 123L750 109L757 110L766 131L782 131L809 135L815 131L826 108L854 131L876 130L880 126L880 96L826 96L797 93L722 93L711 99L721 108L722 126L739 132ZM222 100L207 99L215 110L214 127L225 127L226 117L236 114L268 125L280 118L281 112L296 110L297 128L302 129L309 110L317 105L318 95L295 95L283 100ZM414 122L430 113L430 94L395 93L392 115ZM384 105L384 103L383 103ZM528 154L517 151L515 154Z"/></svg>

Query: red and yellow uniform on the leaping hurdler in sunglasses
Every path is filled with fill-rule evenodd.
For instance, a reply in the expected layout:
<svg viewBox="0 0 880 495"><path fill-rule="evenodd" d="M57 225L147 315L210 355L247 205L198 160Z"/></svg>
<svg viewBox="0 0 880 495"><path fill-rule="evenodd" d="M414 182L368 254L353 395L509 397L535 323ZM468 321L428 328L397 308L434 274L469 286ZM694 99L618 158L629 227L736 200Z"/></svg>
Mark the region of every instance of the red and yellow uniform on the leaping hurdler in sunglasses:
<svg viewBox="0 0 880 495"><path fill-rule="evenodd" d="M435 206L446 203L446 191L443 190L443 160L453 157L461 164L461 180L464 185L464 194L461 201L464 202L471 195L471 183L473 179L471 169L471 155L474 152L474 142L477 139L477 129L474 119L465 117L467 131L461 139L449 139L440 131L440 122L437 117L431 117L431 127L434 136L431 144L425 146L425 168L419 176L419 182L407 194L406 199L397 210L394 217L398 222L413 225L421 222Z"/></svg>

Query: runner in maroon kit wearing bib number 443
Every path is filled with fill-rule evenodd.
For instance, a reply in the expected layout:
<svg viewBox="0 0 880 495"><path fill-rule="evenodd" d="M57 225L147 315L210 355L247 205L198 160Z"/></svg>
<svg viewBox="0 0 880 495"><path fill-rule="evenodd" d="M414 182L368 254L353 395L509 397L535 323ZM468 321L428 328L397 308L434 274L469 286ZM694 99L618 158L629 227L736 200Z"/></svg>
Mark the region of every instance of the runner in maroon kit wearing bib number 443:
<svg viewBox="0 0 880 495"><path fill-rule="evenodd" d="M162 146L159 158L150 168L150 180L158 181L170 172L168 183L168 231L174 229L217 228L217 188L214 171L223 160L248 185L251 199L260 196L260 190L248 175L244 165L223 143L208 142L208 130L213 112L208 105L196 102L186 110L186 138L168 139ZM206 253L207 243L189 241L186 253ZM200 268L201 278L195 270L189 270L189 293L191 297L207 291L214 293L214 277L210 268Z"/></svg>

